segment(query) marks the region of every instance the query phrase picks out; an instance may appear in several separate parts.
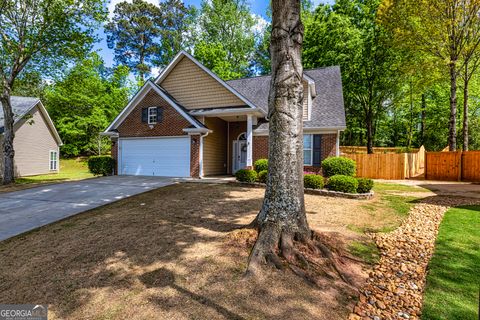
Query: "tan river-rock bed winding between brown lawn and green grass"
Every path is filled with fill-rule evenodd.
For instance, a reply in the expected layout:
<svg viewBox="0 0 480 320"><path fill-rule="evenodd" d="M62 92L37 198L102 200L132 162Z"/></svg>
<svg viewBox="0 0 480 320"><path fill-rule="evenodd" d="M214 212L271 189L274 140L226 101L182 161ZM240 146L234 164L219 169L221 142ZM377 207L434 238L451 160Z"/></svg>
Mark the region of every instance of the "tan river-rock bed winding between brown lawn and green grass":
<svg viewBox="0 0 480 320"><path fill-rule="evenodd" d="M427 198L410 210L399 228L372 235L380 261L360 290L349 319L419 319L427 266L443 215L450 207L478 203L467 198Z"/></svg>

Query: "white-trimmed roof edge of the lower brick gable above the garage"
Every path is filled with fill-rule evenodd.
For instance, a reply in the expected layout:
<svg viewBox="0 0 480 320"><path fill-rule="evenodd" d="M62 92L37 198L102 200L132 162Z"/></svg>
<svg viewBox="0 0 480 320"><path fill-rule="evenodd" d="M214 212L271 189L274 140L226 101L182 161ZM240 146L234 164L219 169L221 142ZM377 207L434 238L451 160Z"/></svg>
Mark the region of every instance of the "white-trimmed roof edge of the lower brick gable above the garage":
<svg viewBox="0 0 480 320"><path fill-rule="evenodd" d="M117 127L127 118L127 116L132 112L135 106L147 95L150 90L154 90L160 97L162 97L168 104L170 104L178 113L180 113L185 119L187 119L194 128L205 128L205 126L192 117L187 110L181 106L175 99L167 93L165 89L155 84L151 80L147 80L145 84L138 90L138 92L133 96L132 99L128 102L127 106L120 112L120 114L113 120L113 122L108 126L104 131L108 133L117 129Z"/></svg>

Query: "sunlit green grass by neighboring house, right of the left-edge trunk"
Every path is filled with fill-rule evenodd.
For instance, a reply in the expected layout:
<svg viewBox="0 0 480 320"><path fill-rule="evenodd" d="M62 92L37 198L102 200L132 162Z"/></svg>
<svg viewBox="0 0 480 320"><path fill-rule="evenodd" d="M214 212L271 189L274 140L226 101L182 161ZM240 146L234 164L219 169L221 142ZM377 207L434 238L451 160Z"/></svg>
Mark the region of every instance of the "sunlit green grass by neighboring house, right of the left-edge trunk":
<svg viewBox="0 0 480 320"><path fill-rule="evenodd" d="M18 178L17 184L30 183L53 183L69 180L82 180L92 178L93 175L88 171L87 162L83 159L60 159L60 172Z"/></svg>

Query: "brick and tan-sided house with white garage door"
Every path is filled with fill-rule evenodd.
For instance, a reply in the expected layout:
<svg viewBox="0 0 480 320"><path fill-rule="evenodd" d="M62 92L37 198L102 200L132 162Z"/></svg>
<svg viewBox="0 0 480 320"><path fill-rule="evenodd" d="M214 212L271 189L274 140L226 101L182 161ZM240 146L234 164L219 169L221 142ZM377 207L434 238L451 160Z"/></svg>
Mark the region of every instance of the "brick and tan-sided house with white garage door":
<svg viewBox="0 0 480 320"><path fill-rule="evenodd" d="M345 110L339 67L304 71L305 170L339 155ZM120 175L233 174L268 156L270 76L223 81L180 52L103 133Z"/></svg>

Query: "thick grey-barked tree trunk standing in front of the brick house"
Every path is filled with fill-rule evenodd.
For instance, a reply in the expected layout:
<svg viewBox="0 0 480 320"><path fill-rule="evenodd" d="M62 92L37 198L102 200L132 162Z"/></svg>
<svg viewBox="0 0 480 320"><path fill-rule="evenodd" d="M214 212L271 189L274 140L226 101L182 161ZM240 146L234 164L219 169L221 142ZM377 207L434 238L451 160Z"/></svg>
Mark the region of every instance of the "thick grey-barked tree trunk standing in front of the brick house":
<svg viewBox="0 0 480 320"><path fill-rule="evenodd" d="M272 14L268 179L247 273L275 263L278 255L292 259L294 241L306 242L311 236L303 196L300 1L273 0Z"/></svg>

